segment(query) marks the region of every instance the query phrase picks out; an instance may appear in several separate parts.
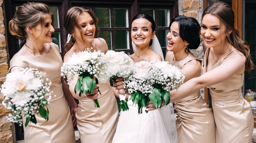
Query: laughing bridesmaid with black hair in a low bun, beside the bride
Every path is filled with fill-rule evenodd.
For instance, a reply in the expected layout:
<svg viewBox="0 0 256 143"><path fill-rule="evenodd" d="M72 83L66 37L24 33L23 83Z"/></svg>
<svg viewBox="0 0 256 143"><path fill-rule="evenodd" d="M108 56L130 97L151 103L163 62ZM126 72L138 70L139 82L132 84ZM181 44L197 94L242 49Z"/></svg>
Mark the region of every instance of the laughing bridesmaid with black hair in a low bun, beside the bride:
<svg viewBox="0 0 256 143"><path fill-rule="evenodd" d="M199 31L200 25L192 17L176 16L169 25L165 61L185 73L184 83L201 74L203 61L190 52L190 49L197 49L200 44ZM200 90L174 104L178 143L215 143L213 112L203 100Z"/></svg>

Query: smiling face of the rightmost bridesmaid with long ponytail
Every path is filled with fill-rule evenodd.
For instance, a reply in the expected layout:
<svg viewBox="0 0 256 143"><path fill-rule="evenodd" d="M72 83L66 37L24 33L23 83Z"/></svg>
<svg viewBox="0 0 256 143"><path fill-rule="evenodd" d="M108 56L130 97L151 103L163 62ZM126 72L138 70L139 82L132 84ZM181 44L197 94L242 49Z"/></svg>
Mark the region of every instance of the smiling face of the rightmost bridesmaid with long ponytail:
<svg viewBox="0 0 256 143"><path fill-rule="evenodd" d="M205 14L202 20L201 35L205 45L210 47L220 47L221 43L227 40L226 27L220 19L211 14Z"/></svg>

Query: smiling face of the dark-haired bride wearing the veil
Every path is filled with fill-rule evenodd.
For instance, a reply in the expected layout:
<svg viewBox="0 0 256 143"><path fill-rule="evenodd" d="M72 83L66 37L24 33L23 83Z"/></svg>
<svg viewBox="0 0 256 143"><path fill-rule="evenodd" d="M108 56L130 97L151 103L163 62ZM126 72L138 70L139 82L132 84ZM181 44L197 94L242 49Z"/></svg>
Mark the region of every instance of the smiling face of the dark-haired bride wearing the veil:
<svg viewBox="0 0 256 143"><path fill-rule="evenodd" d="M152 31L150 21L139 18L133 21L131 38L137 46L149 46L150 40L155 36L155 31Z"/></svg>

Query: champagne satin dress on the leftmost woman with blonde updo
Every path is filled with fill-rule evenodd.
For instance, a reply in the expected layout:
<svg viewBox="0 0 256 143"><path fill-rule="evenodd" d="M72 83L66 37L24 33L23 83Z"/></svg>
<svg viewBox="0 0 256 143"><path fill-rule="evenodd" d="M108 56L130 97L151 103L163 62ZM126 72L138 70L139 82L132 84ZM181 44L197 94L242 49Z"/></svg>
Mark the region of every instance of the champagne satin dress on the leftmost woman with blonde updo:
<svg viewBox="0 0 256 143"><path fill-rule="evenodd" d="M58 46L49 43L51 51L43 56L13 56L10 69L13 67L37 68L45 72L46 77L52 81L53 91L49 109L49 120L46 121L39 114L35 114L37 123L30 122L25 127L23 119L25 143L75 143L75 132L72 124L70 108L65 100L60 68L63 64ZM54 97L54 95L56 95Z"/></svg>

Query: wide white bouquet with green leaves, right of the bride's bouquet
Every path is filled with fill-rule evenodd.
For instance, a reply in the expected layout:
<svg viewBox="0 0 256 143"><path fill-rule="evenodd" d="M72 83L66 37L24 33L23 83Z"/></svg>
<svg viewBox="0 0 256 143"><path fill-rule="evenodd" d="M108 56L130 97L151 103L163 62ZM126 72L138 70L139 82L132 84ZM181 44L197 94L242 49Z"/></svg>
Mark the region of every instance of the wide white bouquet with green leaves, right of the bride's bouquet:
<svg viewBox="0 0 256 143"><path fill-rule="evenodd" d="M182 71L168 62L141 61L135 63L132 74L125 79L124 86L131 95L130 100L138 104L138 113L151 101L156 108L170 103L170 90L178 89L184 81ZM146 111L147 112L147 111Z"/></svg>

